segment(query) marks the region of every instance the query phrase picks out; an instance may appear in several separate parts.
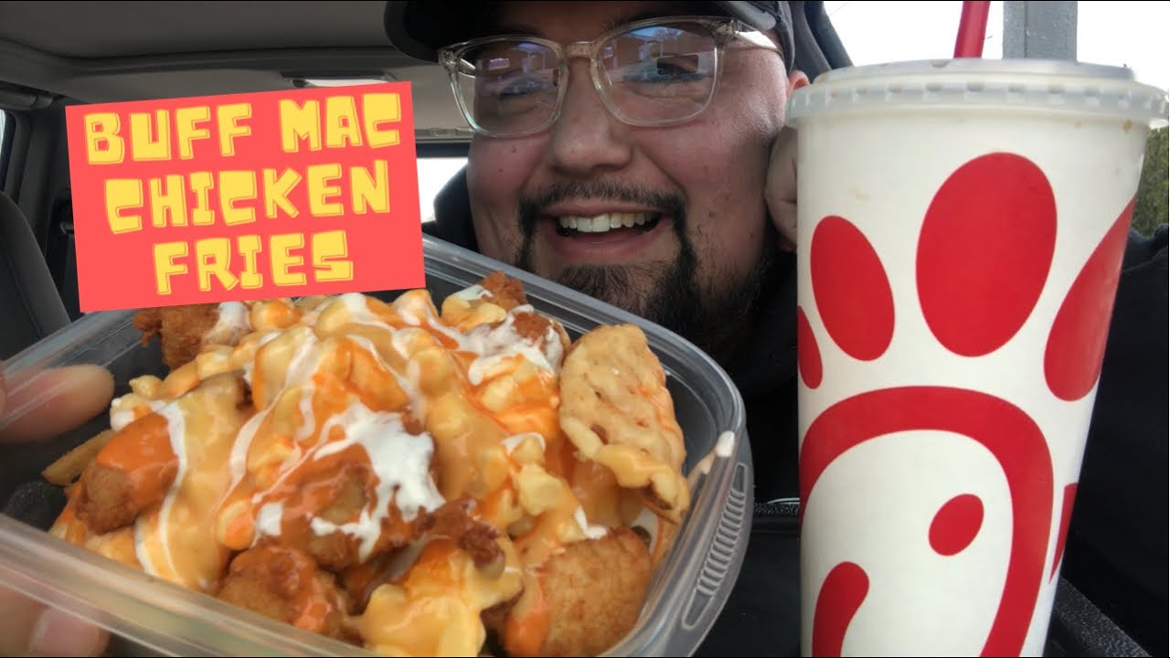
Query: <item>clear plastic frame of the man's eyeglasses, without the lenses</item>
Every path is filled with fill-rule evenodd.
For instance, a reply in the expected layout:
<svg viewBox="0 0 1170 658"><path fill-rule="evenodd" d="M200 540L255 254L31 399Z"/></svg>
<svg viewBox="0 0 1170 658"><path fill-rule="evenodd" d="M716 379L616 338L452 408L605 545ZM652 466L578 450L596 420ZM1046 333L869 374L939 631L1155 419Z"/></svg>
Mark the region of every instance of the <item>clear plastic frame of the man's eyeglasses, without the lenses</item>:
<svg viewBox="0 0 1170 658"><path fill-rule="evenodd" d="M687 116L681 119L656 119L656 121L634 121L628 117L622 116L621 111L617 108L613 100L610 97L610 92L606 91L605 84L601 82L601 70L598 54L601 47L610 40L617 37L618 35L625 34L627 32L633 32L636 29L642 29L646 27L655 27L660 25L670 23L697 23L711 32L711 36L715 41L715 80L711 83L711 91L703 103L702 109L695 114ZM601 98L601 104L605 109L618 121L638 128L667 128L674 125L682 125L695 121L700 116L707 112L711 107L711 101L718 94L720 80L723 77L723 53L728 44L732 43L736 39L746 42L749 46L756 48L762 48L765 50L771 50L784 57L784 53L780 48L772 43L762 32L745 25L744 22L722 16L658 16L653 19L645 19L640 21L634 21L618 26L592 41L573 41L570 43L559 43L549 39L543 39L539 36L534 36L529 34L500 34L494 36L483 36L479 39L472 39L469 41L461 41L459 43L453 43L450 46L445 46L439 49L439 63L447 70L447 75L450 82L452 92L455 96L455 102L459 104L460 111L463 114L463 118L472 126L477 135L484 137L490 137L494 139L508 139L517 137L526 137L529 135L536 135L538 132L544 132L545 130L552 128L553 124L560 118L560 111L564 109L565 92L569 89L569 62L574 59L584 59L590 62L590 78L593 81L593 90L597 91L598 96ZM551 49L559 61L557 70L559 71L559 80L564 80L565 84L557 85L557 102L553 105L552 114L548 119L542 122L536 128L528 130L522 130L517 132L501 133L497 131L490 131L481 126L472 114L472 109L467 107L463 100L463 94L460 90L459 83L459 62L463 54L473 48L480 48L491 43L504 42L504 41L516 41L523 40L528 43L535 43L537 46L544 46Z"/></svg>

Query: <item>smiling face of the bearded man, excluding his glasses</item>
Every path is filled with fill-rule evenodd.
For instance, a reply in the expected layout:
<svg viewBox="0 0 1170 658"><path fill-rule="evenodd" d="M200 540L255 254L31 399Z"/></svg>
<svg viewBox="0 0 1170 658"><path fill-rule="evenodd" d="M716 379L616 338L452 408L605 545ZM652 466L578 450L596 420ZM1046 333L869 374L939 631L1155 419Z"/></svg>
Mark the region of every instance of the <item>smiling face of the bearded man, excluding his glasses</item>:
<svg viewBox="0 0 1170 658"><path fill-rule="evenodd" d="M569 43L669 13L662 2L503 2L494 32L521 28ZM804 81L796 74L790 82L775 52L741 43L724 54L715 98L682 125L622 123L578 59L551 129L477 136L467 173L482 253L721 351L775 253L764 203L769 150L789 92Z"/></svg>

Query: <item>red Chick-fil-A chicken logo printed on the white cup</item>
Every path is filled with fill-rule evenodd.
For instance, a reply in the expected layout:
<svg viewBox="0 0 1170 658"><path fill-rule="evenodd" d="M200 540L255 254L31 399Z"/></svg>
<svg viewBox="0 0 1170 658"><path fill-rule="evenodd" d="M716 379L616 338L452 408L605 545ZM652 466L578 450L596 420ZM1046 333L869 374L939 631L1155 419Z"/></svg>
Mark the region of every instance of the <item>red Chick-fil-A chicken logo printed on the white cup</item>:
<svg viewBox="0 0 1170 658"><path fill-rule="evenodd" d="M1086 398L1100 376L1108 318L1120 275L1133 200L1119 214L1047 325L1042 358L1047 393ZM979 358L1007 344L1049 285L1057 246L1057 203L1045 173L1013 153L990 153L956 169L925 210L916 246L917 307L929 333L951 355ZM866 234L844 217L817 222L810 246L815 317L831 341L818 341L798 309L801 385L825 383L823 356L839 350L874 362L895 340L895 304L887 269ZM1038 423L1012 402L977 390L904 385L837 400L808 425L800 448L801 509L826 469L870 441L899 432L936 431L976 441L998 464L1010 500L1007 569L982 647L984 656L1018 654L1042 587L1057 574L1075 481L1059 482ZM872 494L862 492L859 495ZM1054 514L1059 536L1049 555ZM803 519L807 526L808 518ZM962 554L985 527L979 495L955 491L922 537L934 554ZM1051 558L1051 561L1049 561ZM1051 568L1045 573L1045 564ZM815 588L811 652L839 656L846 633L870 594L863 558L842 560ZM989 577L996 575L989 575Z"/></svg>

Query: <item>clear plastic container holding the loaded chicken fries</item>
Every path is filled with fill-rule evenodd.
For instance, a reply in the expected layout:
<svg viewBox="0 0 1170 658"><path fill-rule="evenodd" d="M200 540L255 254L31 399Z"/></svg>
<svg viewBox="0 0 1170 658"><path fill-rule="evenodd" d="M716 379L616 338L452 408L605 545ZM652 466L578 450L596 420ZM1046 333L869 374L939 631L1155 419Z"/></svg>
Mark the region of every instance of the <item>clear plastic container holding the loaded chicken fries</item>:
<svg viewBox="0 0 1170 658"><path fill-rule="evenodd" d="M706 475L693 481L691 509L651 582L638 625L607 654L694 653L731 594L751 526L751 450L743 402L730 378L677 335L620 309L429 237L424 247L427 288L436 301L503 269L523 282L537 310L559 320L573 338L598 324L639 324L667 373L686 437L686 472L714 451L723 432L734 433L730 457L715 458ZM51 392L16 402L23 397L21 382L46 369L103 365L115 376L116 396L129 391L132 377L165 375L158 342L142 347L132 316L132 311L87 315L13 357L4 368L9 400L15 403L11 417L51 402L47 399ZM99 413L85 426L43 443L0 444L0 500L9 501L56 458L106 427L109 414ZM122 654L370 654L159 581L6 515L0 515L0 587L109 629Z"/></svg>

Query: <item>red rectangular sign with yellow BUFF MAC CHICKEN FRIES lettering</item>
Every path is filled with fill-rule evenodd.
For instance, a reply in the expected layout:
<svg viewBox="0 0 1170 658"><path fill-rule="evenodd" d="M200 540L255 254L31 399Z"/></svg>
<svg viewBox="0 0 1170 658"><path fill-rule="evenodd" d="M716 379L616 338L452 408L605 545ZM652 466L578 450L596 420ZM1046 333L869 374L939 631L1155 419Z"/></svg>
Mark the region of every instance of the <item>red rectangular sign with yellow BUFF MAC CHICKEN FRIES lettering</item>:
<svg viewBox="0 0 1170 658"><path fill-rule="evenodd" d="M410 83L66 121L82 311L425 285Z"/></svg>

